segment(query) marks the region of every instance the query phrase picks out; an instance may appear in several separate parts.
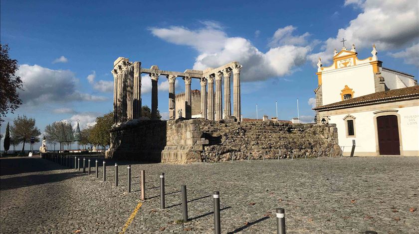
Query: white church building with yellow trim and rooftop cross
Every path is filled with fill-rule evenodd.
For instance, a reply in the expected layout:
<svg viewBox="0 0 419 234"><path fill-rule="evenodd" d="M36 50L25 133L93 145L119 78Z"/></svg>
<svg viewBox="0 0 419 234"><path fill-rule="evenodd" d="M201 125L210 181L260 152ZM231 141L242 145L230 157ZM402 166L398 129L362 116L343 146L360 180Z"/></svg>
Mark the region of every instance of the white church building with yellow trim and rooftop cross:
<svg viewBox="0 0 419 234"><path fill-rule="evenodd" d="M412 75L382 67L375 45L360 60L355 46L317 64L317 124L336 124L343 156L419 156L419 86Z"/></svg>

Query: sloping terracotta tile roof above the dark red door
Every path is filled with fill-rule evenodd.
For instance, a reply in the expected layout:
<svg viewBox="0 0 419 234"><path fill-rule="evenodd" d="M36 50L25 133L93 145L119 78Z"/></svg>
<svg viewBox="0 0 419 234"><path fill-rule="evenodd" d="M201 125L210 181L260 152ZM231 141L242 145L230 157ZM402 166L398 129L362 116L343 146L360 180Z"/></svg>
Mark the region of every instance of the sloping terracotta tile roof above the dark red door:
<svg viewBox="0 0 419 234"><path fill-rule="evenodd" d="M367 94L360 97L355 97L351 99L347 99L344 101L339 101L331 104L327 104L324 106L319 106L313 108L313 110L327 110L327 109L335 109L335 108L342 108L345 106L353 106L353 105L361 105L366 103L374 103L374 102L382 102L391 99L405 99L405 98L412 98L418 97L419 98L419 86L411 86L407 88L398 88L392 89L382 92L375 92L371 94Z"/></svg>

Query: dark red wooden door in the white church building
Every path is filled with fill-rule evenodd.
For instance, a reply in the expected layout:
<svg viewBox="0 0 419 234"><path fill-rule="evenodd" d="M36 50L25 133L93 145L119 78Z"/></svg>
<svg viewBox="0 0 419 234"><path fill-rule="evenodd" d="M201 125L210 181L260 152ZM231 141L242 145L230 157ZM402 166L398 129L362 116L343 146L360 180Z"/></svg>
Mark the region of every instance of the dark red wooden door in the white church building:
<svg viewBox="0 0 419 234"><path fill-rule="evenodd" d="M399 124L396 115L377 117L380 155L400 155Z"/></svg>

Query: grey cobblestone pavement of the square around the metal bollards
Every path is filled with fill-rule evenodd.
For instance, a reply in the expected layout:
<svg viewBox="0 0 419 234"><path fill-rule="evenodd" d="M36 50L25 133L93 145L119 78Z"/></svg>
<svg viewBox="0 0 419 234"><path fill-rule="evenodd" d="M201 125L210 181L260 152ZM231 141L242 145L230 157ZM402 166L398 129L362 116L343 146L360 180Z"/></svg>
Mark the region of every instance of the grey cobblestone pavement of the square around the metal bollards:
<svg viewBox="0 0 419 234"><path fill-rule="evenodd" d="M275 233L285 208L287 234L419 233L419 158L355 157L141 164L107 161L107 181L41 158L0 159L0 233L213 233L212 192L220 192L222 233ZM100 165L102 164L100 159ZM74 162L73 162L74 163ZM127 193L126 165L132 163ZM94 163L92 163L93 165ZM140 201L140 170L146 196ZM92 167L94 172L94 167ZM166 174L160 209L159 175ZM180 186L189 217L181 223ZM415 209L418 209L415 211ZM414 212L412 212L414 211ZM178 222L177 222L178 221Z"/></svg>

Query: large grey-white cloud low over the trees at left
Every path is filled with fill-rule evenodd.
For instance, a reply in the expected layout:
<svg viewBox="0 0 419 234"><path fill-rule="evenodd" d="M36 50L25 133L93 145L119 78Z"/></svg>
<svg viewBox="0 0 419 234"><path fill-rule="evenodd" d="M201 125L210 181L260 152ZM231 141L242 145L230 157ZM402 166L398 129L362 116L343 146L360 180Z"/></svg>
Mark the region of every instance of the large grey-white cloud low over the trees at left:
<svg viewBox="0 0 419 234"><path fill-rule="evenodd" d="M23 64L16 71L23 81L19 97L23 104L38 106L51 102L105 101L106 97L82 93L76 89L78 79L69 70L52 70L39 65Z"/></svg>

